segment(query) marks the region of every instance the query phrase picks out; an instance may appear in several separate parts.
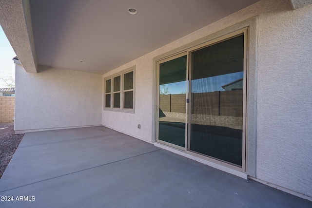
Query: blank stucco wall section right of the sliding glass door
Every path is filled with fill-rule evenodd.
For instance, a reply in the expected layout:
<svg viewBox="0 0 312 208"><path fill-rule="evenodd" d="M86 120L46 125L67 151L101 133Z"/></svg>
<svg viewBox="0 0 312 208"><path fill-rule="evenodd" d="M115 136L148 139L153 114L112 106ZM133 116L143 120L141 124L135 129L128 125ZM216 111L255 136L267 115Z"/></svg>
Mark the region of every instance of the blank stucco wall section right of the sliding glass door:
<svg viewBox="0 0 312 208"><path fill-rule="evenodd" d="M259 19L257 178L312 196L312 6Z"/></svg>

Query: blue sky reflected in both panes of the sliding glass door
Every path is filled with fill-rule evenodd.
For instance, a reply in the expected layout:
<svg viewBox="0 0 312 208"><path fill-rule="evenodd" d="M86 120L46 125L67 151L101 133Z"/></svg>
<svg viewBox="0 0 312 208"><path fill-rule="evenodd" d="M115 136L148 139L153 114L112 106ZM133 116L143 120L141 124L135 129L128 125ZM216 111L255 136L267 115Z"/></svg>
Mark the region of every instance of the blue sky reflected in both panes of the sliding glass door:
<svg viewBox="0 0 312 208"><path fill-rule="evenodd" d="M224 91L221 87L243 77L243 72L212 76L192 80L192 93L206 93ZM186 81L165 84L168 94L182 94L186 92Z"/></svg>

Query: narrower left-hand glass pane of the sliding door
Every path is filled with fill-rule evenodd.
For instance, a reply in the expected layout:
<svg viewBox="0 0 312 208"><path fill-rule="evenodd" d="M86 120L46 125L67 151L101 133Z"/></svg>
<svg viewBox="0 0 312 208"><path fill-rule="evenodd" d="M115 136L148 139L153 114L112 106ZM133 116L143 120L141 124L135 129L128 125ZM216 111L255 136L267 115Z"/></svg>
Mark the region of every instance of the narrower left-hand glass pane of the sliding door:
<svg viewBox="0 0 312 208"><path fill-rule="evenodd" d="M158 141L185 147L186 58L159 64Z"/></svg>

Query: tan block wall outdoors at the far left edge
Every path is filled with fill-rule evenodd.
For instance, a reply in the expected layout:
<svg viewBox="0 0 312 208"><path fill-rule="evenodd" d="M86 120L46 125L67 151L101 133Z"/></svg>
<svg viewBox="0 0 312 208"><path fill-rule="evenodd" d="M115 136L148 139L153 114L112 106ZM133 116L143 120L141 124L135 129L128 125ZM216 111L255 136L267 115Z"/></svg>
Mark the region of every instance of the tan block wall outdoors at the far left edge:
<svg viewBox="0 0 312 208"><path fill-rule="evenodd" d="M0 123L12 123L14 117L15 97L0 96Z"/></svg>

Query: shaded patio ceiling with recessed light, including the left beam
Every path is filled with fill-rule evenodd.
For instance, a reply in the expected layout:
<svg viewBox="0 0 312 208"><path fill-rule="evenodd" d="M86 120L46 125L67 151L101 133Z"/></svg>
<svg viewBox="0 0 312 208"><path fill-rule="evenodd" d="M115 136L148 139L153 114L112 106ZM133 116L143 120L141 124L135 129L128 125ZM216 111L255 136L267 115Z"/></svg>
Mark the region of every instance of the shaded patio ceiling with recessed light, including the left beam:
<svg viewBox="0 0 312 208"><path fill-rule="evenodd" d="M0 3L0 24L28 72L104 74L257 1L11 0Z"/></svg>

